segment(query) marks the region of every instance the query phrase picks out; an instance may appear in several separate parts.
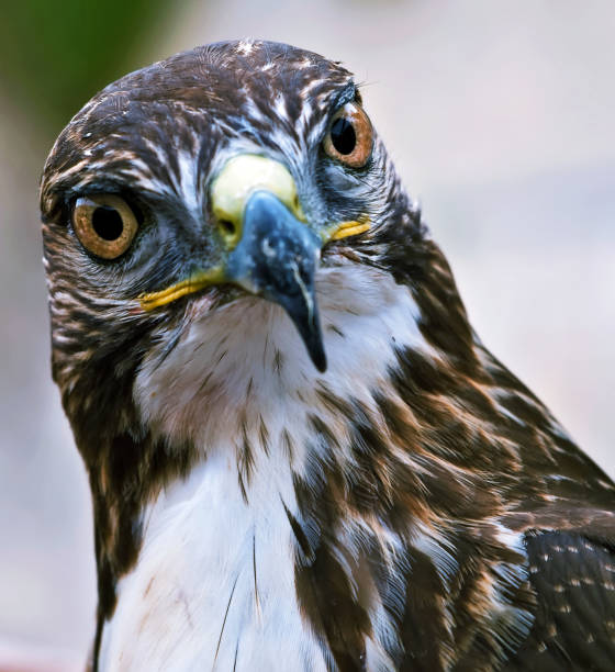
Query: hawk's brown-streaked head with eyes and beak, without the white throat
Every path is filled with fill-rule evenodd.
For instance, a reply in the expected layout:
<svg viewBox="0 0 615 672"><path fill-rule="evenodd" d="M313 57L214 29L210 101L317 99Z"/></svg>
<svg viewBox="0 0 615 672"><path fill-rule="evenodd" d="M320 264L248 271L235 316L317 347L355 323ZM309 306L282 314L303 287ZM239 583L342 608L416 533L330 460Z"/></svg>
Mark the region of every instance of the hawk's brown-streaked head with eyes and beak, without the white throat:
<svg viewBox="0 0 615 672"><path fill-rule="evenodd" d="M288 321L270 303L324 372L331 285L362 304L367 269L394 277L407 248L425 271L420 214L351 75L286 45L211 45L107 87L56 142L41 203L63 389L94 362L170 351L195 321L222 333L227 315L232 332L238 311L276 318L266 367L304 360L294 336L273 346ZM251 340L262 321L242 322Z"/></svg>

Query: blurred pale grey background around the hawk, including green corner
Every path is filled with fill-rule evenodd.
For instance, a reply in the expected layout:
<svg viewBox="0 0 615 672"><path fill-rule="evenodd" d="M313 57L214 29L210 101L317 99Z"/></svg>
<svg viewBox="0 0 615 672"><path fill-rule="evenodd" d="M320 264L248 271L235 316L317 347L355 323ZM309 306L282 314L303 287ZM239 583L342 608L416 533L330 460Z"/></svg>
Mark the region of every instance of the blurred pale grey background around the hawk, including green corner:
<svg viewBox="0 0 615 672"><path fill-rule="evenodd" d="M25 0L0 26L0 652L93 632L85 471L49 380L38 177L109 81L261 37L344 61L484 343L615 475L611 0Z"/></svg>

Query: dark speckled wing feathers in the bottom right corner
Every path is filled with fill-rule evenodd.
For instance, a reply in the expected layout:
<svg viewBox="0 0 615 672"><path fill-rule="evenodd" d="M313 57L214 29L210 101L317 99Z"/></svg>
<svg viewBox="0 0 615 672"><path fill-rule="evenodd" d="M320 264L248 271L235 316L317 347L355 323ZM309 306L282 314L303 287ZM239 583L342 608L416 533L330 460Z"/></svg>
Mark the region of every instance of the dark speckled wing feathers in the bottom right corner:
<svg viewBox="0 0 615 672"><path fill-rule="evenodd" d="M541 530L525 542L536 620L505 669L615 670L615 545Z"/></svg>

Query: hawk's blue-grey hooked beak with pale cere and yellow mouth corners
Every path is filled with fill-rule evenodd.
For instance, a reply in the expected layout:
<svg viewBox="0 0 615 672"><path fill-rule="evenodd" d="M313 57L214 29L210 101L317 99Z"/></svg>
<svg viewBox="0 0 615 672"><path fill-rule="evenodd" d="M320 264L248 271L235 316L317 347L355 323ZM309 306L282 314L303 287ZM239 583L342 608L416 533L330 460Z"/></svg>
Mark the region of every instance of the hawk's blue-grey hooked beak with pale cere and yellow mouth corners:
<svg viewBox="0 0 615 672"><path fill-rule="evenodd" d="M305 224L288 169L250 154L224 165L210 197L219 237L227 250L225 264L142 294L142 307L150 311L211 284L232 282L281 305L312 362L324 372L326 355L314 288L321 247L327 240L364 233L369 223L342 222L314 233Z"/></svg>

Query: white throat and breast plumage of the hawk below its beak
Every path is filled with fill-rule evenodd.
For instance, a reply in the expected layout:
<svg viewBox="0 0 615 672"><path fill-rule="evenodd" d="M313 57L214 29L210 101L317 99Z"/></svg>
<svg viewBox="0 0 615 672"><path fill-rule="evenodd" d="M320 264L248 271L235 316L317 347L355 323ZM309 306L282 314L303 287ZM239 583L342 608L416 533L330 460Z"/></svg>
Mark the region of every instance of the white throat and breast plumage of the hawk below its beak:
<svg viewBox="0 0 615 672"><path fill-rule="evenodd" d="M315 389L325 383L344 399L373 406L371 391L394 363L393 347L429 348L410 291L389 275L355 265L321 269L316 288L324 374L282 310L248 298L193 322L161 363L159 352L146 358L134 387L144 422L171 444L193 440L203 459L146 513L137 565L120 581L118 607L104 627L101 671L326 669L300 613L295 539L284 512L286 505L298 514L293 472L310 475L309 414L344 430ZM242 423L255 457L247 503L236 461ZM376 611L387 637L391 628L381 623L381 605ZM368 670L384 669L381 642L367 645Z"/></svg>

